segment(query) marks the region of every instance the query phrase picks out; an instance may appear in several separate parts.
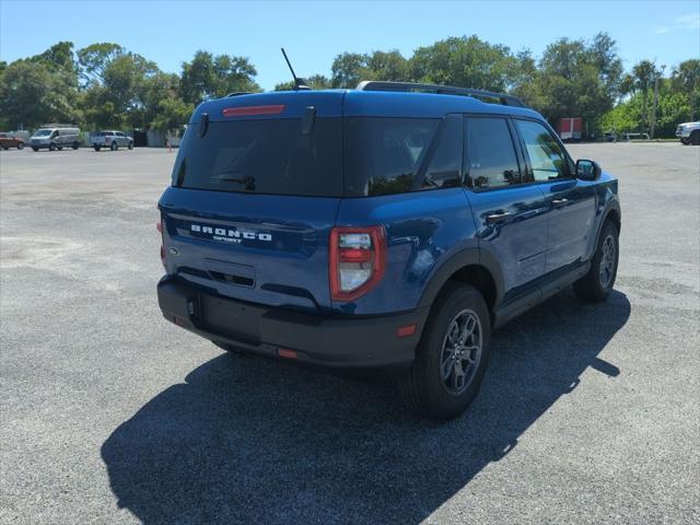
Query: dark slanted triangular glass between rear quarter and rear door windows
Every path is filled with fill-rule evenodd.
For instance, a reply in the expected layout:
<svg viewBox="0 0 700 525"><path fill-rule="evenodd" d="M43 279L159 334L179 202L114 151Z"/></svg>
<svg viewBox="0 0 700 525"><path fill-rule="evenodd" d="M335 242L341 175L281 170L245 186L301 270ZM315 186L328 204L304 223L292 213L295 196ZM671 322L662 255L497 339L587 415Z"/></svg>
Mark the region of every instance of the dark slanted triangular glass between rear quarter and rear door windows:
<svg viewBox="0 0 700 525"><path fill-rule="evenodd" d="M439 130L438 143L428 167L422 170L422 189L462 185L462 115L448 115Z"/></svg>

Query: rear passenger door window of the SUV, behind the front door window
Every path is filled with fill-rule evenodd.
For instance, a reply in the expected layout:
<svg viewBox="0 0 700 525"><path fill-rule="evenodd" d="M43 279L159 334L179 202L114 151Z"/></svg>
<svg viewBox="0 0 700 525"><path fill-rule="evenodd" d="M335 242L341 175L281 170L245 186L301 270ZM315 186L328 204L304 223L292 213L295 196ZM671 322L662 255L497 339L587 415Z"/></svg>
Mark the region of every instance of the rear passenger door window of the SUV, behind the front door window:
<svg viewBox="0 0 700 525"><path fill-rule="evenodd" d="M498 188L520 184L513 139L504 118L468 118L465 122L468 186Z"/></svg>

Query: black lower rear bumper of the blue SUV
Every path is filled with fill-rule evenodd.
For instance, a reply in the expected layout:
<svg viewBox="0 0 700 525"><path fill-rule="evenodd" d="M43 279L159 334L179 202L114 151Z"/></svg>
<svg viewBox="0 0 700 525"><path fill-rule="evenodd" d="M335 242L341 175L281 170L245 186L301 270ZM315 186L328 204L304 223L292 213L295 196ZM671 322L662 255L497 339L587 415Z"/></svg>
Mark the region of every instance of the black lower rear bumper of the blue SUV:
<svg viewBox="0 0 700 525"><path fill-rule="evenodd" d="M428 308L378 317L320 317L209 294L168 277L159 282L158 299L167 320L212 341L273 357L292 350L298 361L328 366L410 363L428 317ZM397 336L399 327L413 324L412 335Z"/></svg>

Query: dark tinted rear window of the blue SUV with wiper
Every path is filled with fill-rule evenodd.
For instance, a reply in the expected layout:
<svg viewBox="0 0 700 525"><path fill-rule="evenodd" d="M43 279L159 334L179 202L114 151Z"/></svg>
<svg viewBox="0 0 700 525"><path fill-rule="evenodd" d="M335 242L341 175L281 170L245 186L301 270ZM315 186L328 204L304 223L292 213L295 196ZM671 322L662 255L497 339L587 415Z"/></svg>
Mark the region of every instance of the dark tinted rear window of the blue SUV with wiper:
<svg viewBox="0 0 700 525"><path fill-rule="evenodd" d="M316 118L302 133L299 118L210 122L203 137L188 127L173 185L272 195L342 195L342 120Z"/></svg>

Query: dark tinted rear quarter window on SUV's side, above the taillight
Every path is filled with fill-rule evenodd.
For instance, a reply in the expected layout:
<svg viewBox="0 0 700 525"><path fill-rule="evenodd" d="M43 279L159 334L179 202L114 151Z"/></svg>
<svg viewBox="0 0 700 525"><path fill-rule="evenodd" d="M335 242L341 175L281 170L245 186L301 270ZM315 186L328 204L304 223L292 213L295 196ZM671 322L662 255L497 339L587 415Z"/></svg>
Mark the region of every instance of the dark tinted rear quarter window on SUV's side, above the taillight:
<svg viewBox="0 0 700 525"><path fill-rule="evenodd" d="M348 118L346 195L411 191L439 122L428 118Z"/></svg>

